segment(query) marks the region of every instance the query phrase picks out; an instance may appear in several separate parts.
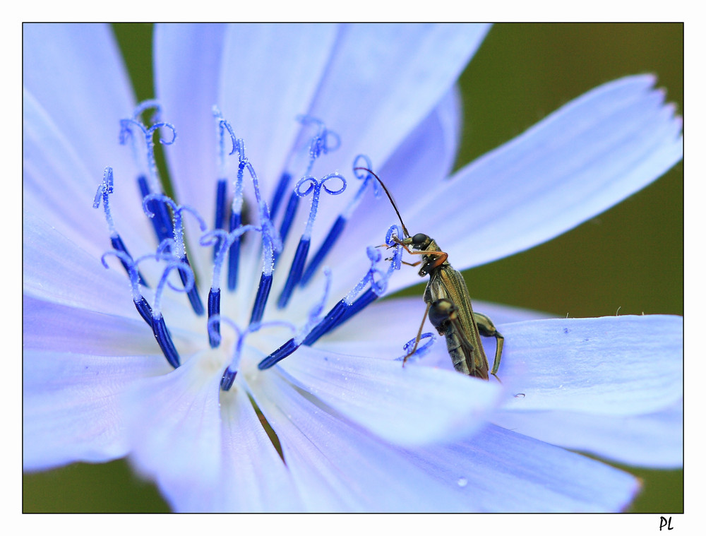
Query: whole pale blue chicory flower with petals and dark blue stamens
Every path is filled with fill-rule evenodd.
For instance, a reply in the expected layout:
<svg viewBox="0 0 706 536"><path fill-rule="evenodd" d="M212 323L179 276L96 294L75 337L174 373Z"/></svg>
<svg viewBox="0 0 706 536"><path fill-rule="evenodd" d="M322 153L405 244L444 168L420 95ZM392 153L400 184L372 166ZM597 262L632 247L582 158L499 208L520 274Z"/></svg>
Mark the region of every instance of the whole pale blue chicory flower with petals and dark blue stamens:
<svg viewBox="0 0 706 536"><path fill-rule="evenodd" d="M503 383L448 370L439 340L400 364L424 302L377 297L419 278L352 168L463 269L681 159L674 109L634 76L448 180L455 79L486 31L160 26L157 101L138 106L109 30L27 25L25 470L128 455L179 511L612 511L638 482L562 447L678 465L654 439L681 423L681 318L488 305Z"/></svg>

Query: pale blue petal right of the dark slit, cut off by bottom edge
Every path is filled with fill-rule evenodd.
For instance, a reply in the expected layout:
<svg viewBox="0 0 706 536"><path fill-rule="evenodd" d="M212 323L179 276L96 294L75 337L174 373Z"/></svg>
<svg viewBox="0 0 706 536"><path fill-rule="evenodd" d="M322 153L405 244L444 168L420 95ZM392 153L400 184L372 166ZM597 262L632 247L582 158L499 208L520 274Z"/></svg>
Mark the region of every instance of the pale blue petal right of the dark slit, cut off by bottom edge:
<svg viewBox="0 0 706 536"><path fill-rule="evenodd" d="M331 415L277 376L249 384L282 445L304 509L462 511L464 504L400 451Z"/></svg>

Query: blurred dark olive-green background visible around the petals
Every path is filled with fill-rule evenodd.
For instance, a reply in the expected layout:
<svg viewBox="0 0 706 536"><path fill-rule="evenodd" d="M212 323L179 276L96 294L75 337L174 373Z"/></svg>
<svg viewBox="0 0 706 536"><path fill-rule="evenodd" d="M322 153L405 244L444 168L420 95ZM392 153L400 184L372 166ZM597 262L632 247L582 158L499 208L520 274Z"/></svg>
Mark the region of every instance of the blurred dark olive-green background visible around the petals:
<svg viewBox="0 0 706 536"><path fill-rule="evenodd" d="M114 29L138 100L153 97L151 25ZM465 130L457 167L587 90L635 73L657 74L683 114L683 25L494 26L460 79ZM563 236L465 276L476 299L558 316L614 315L618 307L620 314L683 314L683 165ZM420 283L405 294L421 296L423 288ZM683 471L621 467L643 480L630 511L683 511ZM24 475L23 510L169 508L152 484L118 460Z"/></svg>

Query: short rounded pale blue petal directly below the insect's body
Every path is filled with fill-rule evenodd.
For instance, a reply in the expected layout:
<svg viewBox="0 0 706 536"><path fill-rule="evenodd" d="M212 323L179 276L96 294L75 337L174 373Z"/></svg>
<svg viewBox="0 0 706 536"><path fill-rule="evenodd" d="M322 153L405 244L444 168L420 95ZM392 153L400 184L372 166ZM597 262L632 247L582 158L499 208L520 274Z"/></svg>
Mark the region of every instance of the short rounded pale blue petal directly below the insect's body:
<svg viewBox="0 0 706 536"><path fill-rule="evenodd" d="M404 355L404 352L400 352ZM502 394L497 383L390 359L309 347L281 364L287 377L385 441L418 445L468 436Z"/></svg>

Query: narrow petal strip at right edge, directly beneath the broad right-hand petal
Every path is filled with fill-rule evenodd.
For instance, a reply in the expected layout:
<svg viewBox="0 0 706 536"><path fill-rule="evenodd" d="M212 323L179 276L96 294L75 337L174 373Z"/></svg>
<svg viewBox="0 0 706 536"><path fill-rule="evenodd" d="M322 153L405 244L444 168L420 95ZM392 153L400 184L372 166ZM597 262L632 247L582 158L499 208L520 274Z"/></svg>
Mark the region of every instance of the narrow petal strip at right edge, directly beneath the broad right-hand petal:
<svg viewBox="0 0 706 536"><path fill-rule="evenodd" d="M496 424L547 443L628 465L674 469L683 465L683 399L647 415L500 411Z"/></svg>

